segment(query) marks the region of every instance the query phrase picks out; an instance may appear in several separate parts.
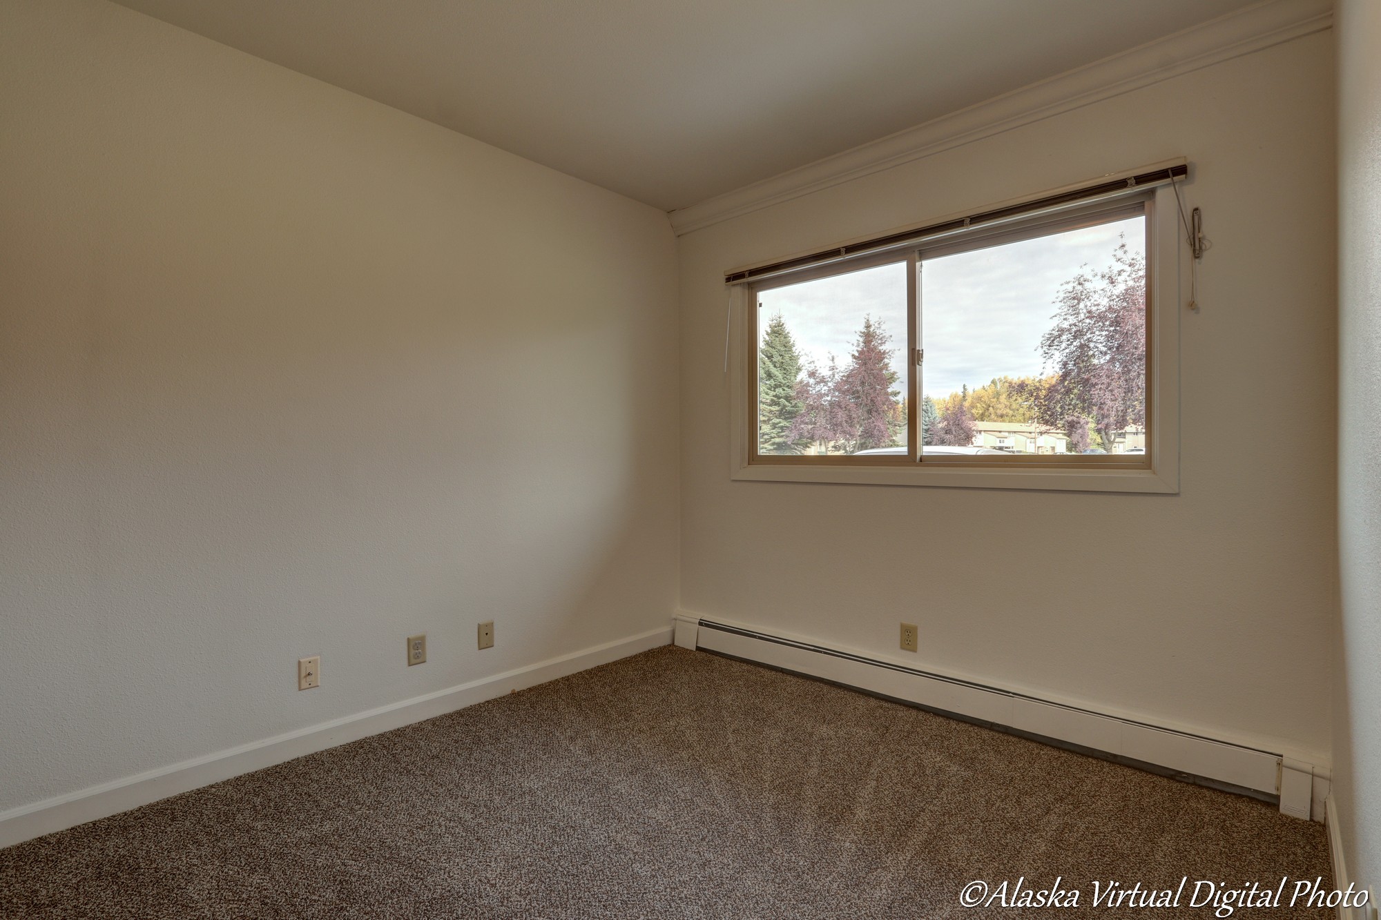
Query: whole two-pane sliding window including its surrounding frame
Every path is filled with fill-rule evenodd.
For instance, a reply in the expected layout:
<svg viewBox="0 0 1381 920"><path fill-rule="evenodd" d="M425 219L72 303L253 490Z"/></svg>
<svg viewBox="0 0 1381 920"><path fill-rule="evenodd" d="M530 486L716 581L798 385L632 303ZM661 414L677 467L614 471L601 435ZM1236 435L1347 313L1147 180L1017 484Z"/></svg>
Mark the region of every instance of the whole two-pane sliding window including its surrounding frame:
<svg viewBox="0 0 1381 920"><path fill-rule="evenodd" d="M1160 195L747 279L736 478L1178 490Z"/></svg>

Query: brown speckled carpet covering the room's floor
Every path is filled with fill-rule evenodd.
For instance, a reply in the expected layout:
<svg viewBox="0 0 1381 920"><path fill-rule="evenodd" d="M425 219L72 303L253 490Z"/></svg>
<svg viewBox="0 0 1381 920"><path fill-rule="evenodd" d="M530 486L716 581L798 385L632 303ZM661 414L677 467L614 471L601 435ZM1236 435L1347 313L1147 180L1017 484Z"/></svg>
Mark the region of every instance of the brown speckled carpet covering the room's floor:
<svg viewBox="0 0 1381 920"><path fill-rule="evenodd" d="M1048 916L958 903L1021 876L1211 917L1196 880L1329 855L1250 798L668 646L3 850L0 916ZM1184 876L1179 910L1090 905Z"/></svg>

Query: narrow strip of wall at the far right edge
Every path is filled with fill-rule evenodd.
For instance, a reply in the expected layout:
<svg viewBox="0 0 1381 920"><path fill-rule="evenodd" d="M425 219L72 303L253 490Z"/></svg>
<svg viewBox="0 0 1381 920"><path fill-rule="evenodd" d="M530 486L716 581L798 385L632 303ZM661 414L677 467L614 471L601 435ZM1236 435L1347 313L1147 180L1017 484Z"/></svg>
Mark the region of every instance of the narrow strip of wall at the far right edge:
<svg viewBox="0 0 1381 920"><path fill-rule="evenodd" d="M1381 6L1338 33L1340 550L1334 798L1348 872L1381 891Z"/></svg>

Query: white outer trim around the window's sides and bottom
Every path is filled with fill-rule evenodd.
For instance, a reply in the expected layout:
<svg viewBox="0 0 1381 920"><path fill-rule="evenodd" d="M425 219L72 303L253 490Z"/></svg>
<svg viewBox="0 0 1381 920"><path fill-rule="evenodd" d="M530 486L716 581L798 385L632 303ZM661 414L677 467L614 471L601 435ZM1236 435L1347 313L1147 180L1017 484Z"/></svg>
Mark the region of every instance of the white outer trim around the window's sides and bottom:
<svg viewBox="0 0 1381 920"><path fill-rule="evenodd" d="M1032 196L1032 200L1041 196ZM1040 489L1065 492L1179 492L1179 320L1186 303L1181 271L1179 218L1175 191L1170 185L1143 189L1146 200L1146 278L1149 332L1148 351L1148 428L1146 454L1150 463L1141 468L1081 464L1058 467L1043 464L993 463L841 463L802 464L773 463L757 457L750 463L755 432L750 419L746 387L751 373L749 361L755 358L755 303L750 285L729 287L729 475L747 482L827 482L848 485L940 486L965 489ZM940 217L932 222L963 217ZM1033 217L1039 221L1039 217ZM975 232L978 235L978 232ZM917 245L914 251L928 249ZM924 320L923 320L924 322ZM914 395L914 394L913 394ZM913 409L914 412L916 409Z"/></svg>

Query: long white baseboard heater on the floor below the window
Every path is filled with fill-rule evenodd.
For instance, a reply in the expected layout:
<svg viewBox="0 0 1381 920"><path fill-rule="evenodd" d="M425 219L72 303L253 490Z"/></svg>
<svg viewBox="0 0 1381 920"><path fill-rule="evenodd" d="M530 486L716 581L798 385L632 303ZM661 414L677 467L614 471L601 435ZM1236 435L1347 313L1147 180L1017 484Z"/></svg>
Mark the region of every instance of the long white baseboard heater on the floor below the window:
<svg viewBox="0 0 1381 920"><path fill-rule="evenodd" d="M675 644L812 677L1091 757L1251 796L1322 819L1327 782L1279 753L1052 703L826 645L677 617ZM1315 803L1317 798L1317 803Z"/></svg>

